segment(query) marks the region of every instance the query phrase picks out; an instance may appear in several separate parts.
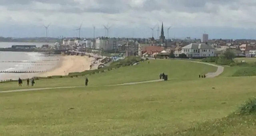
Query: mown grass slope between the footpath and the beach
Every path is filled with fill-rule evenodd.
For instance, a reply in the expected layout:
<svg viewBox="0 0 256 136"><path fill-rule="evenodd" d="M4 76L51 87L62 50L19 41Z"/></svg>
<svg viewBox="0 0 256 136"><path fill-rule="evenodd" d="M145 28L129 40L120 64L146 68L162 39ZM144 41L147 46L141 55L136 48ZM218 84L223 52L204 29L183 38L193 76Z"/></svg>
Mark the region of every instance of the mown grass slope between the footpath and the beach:
<svg viewBox="0 0 256 136"><path fill-rule="evenodd" d="M144 61L139 65L120 67L105 73L89 75L89 85L114 85L121 83L140 82L159 79L160 73L168 74L169 79L197 79L199 74L215 72L216 67L188 62L182 60L150 60ZM34 88L42 87L62 87L62 86L83 86L85 77L69 77L59 79L41 79L36 80ZM0 84L0 91L27 89L26 81L23 86L18 87L17 82Z"/></svg>

